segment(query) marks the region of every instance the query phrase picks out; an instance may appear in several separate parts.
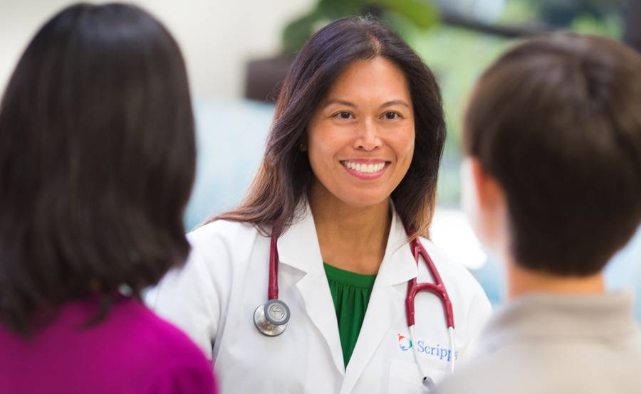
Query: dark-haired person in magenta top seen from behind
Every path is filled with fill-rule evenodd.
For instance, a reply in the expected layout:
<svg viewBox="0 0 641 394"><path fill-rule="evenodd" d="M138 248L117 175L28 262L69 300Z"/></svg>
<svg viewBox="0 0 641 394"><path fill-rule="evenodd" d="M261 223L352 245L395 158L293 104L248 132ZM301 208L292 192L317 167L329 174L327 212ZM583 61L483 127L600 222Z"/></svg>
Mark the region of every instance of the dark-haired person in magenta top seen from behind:
<svg viewBox="0 0 641 394"><path fill-rule="evenodd" d="M78 4L36 33L0 106L0 393L215 393L140 301L189 252L187 73L170 33Z"/></svg>

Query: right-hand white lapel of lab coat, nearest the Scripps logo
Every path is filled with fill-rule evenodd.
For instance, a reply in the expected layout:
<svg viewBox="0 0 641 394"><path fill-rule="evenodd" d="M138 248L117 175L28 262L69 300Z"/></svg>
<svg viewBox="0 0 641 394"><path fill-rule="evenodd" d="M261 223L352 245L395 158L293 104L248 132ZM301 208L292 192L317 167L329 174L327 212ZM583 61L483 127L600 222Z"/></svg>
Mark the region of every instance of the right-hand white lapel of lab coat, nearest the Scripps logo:
<svg viewBox="0 0 641 394"><path fill-rule="evenodd" d="M368 310L352 357L345 371L341 394L351 393L361 374L374 356L390 326L405 312L405 282L417 276L417 266L407 235L396 213L392 216L385 257L372 289Z"/></svg>

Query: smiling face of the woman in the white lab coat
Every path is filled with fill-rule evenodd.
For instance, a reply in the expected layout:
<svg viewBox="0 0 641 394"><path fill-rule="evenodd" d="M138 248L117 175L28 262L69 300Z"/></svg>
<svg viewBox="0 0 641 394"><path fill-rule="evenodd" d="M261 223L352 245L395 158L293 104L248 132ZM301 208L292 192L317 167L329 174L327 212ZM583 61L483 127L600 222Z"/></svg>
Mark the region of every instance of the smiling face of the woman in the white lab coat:
<svg viewBox="0 0 641 394"><path fill-rule="evenodd" d="M414 141L407 78L380 57L345 68L308 125L315 181L350 206L390 197L410 168Z"/></svg>

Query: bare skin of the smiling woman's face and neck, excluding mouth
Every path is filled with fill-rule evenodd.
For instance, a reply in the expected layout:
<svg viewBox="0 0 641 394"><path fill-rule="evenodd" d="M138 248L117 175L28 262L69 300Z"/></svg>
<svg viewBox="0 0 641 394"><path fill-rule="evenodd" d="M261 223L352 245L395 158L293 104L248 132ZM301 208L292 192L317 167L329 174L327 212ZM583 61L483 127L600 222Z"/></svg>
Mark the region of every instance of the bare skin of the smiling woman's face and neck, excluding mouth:
<svg viewBox="0 0 641 394"><path fill-rule="evenodd" d="M308 194L323 261L378 272L390 231L390 195L410 168L412 97L402 70L384 58L356 60L333 82L308 124L314 179ZM385 163L375 179L345 161Z"/></svg>

